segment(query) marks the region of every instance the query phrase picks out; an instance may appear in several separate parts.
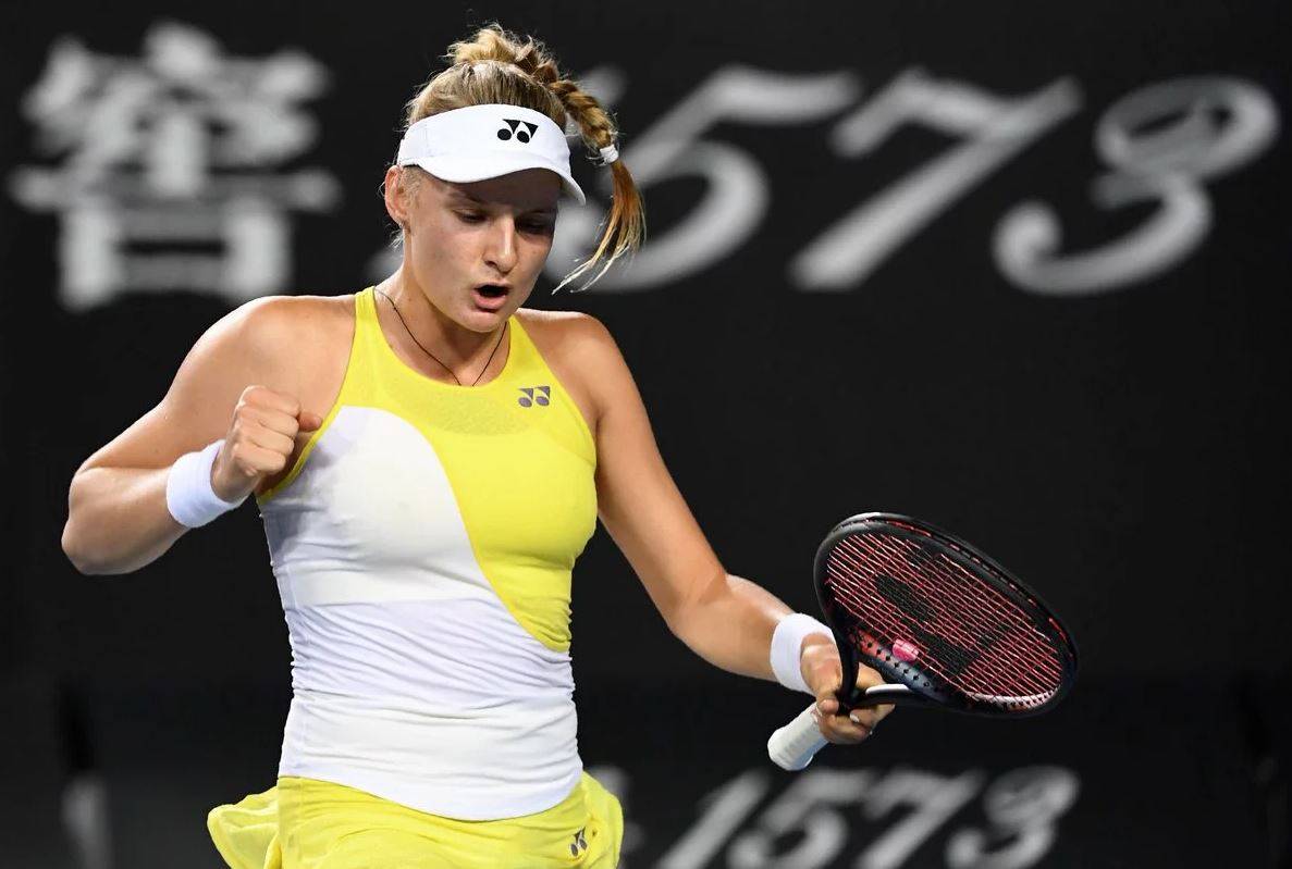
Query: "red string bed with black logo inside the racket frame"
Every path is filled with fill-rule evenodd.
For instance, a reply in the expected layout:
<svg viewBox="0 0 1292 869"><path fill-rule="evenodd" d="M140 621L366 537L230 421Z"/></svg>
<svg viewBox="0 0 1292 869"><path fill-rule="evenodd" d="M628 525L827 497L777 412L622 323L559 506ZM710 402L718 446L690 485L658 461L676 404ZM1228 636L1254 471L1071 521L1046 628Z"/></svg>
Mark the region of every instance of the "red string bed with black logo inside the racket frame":
<svg viewBox="0 0 1292 869"><path fill-rule="evenodd" d="M921 666L977 700L1040 705L1062 682L1053 642L1026 611L915 541L876 533L844 537L827 560L827 581L890 648L916 640Z"/></svg>

